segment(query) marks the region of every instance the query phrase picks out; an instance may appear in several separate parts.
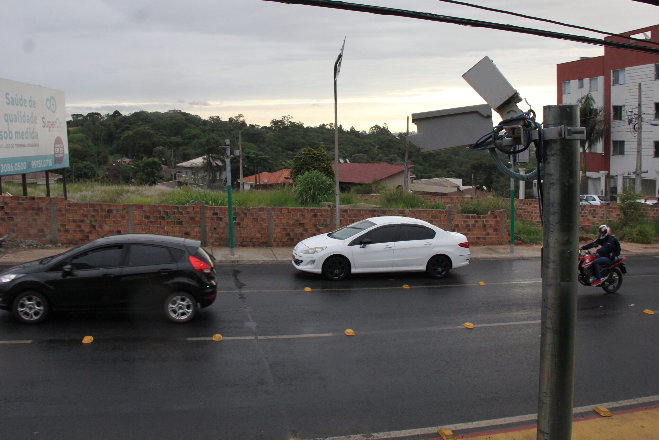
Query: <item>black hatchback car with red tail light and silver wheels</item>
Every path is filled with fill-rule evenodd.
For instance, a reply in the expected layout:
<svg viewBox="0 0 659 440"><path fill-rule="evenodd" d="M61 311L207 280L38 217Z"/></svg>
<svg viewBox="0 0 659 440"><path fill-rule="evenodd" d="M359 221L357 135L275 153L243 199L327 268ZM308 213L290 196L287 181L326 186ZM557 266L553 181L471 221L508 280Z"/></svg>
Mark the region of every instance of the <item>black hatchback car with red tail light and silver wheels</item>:
<svg viewBox="0 0 659 440"><path fill-rule="evenodd" d="M49 311L158 309L175 323L215 301L213 257L179 237L103 237L0 274L0 309L23 323Z"/></svg>

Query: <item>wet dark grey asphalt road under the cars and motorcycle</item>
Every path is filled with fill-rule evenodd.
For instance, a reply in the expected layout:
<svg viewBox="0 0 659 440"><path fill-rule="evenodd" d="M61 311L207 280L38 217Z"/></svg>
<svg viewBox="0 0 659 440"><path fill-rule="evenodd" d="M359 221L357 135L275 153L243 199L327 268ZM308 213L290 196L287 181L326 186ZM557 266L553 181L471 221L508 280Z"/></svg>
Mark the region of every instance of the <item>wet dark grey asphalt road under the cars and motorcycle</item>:
<svg viewBox="0 0 659 440"><path fill-rule="evenodd" d="M659 314L642 313L659 310L659 258L627 262L619 293L580 286L575 406L659 394ZM103 313L28 326L0 311L0 340L34 341L0 344L0 438L309 439L536 412L539 260L474 261L444 280L218 271L217 301L188 325Z"/></svg>

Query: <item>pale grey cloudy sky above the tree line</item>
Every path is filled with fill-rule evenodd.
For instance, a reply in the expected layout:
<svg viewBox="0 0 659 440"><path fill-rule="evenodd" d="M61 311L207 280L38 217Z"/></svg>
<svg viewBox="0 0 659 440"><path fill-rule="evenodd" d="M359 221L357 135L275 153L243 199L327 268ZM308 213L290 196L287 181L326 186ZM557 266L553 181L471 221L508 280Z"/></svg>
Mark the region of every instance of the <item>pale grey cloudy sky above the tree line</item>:
<svg viewBox="0 0 659 440"><path fill-rule="evenodd" d="M599 37L437 0L362 0ZM625 32L659 9L630 0L474 0ZM0 77L65 90L67 114L180 109L267 125L333 121L333 63L347 38L339 123L403 131L417 111L479 104L461 78L490 56L533 108L556 104L556 63L602 55L548 38L261 0L21 0L3 6ZM414 127L412 127L413 129Z"/></svg>

